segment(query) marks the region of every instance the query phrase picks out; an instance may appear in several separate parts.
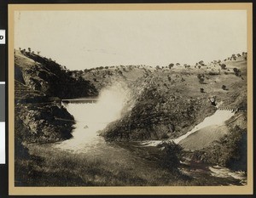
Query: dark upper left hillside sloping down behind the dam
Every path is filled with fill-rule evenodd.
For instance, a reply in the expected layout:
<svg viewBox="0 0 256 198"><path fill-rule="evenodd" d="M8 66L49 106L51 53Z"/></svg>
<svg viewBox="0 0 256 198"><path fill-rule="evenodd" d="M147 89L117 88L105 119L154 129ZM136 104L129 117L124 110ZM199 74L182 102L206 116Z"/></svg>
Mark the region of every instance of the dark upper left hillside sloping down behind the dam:
<svg viewBox="0 0 256 198"><path fill-rule="evenodd" d="M71 76L51 59L26 51L15 50L15 80L61 99L97 95L96 88L89 81Z"/></svg>

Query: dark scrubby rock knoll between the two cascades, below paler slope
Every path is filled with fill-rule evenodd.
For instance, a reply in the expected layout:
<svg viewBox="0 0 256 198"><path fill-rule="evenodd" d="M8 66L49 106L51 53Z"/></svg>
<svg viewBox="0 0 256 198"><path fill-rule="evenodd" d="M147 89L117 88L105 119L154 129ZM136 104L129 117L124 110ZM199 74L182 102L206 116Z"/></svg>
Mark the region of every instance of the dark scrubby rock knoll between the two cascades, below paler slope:
<svg viewBox="0 0 256 198"><path fill-rule="evenodd" d="M102 131L108 140L177 138L216 110L207 99L187 99L166 94L150 85L137 97L133 108Z"/></svg>

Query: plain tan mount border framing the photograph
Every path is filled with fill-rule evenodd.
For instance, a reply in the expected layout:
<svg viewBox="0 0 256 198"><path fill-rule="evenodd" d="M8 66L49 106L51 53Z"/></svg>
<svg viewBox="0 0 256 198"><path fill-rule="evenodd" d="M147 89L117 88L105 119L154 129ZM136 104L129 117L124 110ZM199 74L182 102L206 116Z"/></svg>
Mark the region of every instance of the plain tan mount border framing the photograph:
<svg viewBox="0 0 256 198"><path fill-rule="evenodd" d="M9 195L252 195L253 3L9 4ZM18 10L247 10L247 185L151 187L15 187L14 14Z"/></svg>

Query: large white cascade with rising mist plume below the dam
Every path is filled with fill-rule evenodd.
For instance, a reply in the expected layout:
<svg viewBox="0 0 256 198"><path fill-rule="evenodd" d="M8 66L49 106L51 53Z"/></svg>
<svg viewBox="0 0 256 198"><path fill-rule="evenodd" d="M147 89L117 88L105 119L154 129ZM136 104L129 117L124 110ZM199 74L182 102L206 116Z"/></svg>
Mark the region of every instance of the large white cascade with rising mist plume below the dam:
<svg viewBox="0 0 256 198"><path fill-rule="evenodd" d="M115 83L111 87L102 89L95 104L68 104L66 108L76 121L73 139L63 141L57 147L78 152L85 147L95 147L99 141L102 141L96 132L121 117L130 96L130 90L124 83Z"/></svg>

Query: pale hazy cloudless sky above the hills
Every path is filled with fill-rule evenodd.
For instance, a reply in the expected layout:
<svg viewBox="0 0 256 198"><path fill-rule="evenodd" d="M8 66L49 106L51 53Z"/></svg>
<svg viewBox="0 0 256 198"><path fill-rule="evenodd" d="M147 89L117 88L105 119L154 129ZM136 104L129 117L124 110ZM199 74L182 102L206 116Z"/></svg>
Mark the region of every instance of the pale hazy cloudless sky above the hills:
<svg viewBox="0 0 256 198"><path fill-rule="evenodd" d="M72 70L195 64L247 51L241 10L16 11L15 48Z"/></svg>

